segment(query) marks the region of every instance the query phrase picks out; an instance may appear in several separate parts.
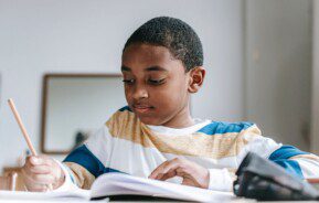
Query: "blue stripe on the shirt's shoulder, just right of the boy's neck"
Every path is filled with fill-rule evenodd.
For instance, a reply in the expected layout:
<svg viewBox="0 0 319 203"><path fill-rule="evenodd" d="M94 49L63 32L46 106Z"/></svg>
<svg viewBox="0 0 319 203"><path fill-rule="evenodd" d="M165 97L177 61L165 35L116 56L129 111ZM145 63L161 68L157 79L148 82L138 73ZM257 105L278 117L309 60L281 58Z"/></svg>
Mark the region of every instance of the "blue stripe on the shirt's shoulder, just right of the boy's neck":
<svg viewBox="0 0 319 203"><path fill-rule="evenodd" d="M228 132L241 132L254 124L252 122L217 122L213 121L205 127L201 128L198 132L203 132L206 135L216 135L216 133L228 133Z"/></svg>

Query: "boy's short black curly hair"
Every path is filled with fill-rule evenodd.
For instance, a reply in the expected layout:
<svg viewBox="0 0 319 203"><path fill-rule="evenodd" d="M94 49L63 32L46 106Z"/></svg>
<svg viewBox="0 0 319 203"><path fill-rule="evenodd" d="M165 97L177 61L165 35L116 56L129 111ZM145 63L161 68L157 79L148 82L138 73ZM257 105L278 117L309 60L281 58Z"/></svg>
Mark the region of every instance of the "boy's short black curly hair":
<svg viewBox="0 0 319 203"><path fill-rule="evenodd" d="M182 61L187 72L203 65L200 38L189 24L179 19L158 17L147 21L129 36L123 52L134 43L167 47L177 60Z"/></svg>

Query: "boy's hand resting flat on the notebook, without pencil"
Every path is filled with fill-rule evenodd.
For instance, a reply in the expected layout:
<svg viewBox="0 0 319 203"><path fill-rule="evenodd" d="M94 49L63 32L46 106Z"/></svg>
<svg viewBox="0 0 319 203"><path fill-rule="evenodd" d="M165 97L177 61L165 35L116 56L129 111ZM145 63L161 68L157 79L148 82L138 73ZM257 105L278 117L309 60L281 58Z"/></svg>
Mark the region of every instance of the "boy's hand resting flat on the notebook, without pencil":
<svg viewBox="0 0 319 203"><path fill-rule="evenodd" d="M181 177L184 185L208 189L210 184L208 169L180 158L164 161L151 172L149 179L166 181L173 177Z"/></svg>

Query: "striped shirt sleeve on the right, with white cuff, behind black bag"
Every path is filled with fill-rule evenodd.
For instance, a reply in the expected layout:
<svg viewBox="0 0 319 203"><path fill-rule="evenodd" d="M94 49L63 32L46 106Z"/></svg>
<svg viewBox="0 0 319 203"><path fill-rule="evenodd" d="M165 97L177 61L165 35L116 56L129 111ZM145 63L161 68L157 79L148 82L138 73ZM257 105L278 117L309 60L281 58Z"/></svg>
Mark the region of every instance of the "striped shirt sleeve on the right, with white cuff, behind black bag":
<svg viewBox="0 0 319 203"><path fill-rule="evenodd" d="M255 130L252 130L254 129ZM277 143L270 138L263 137L254 125L251 129L243 130L238 138L246 142L236 156L237 167L247 152L255 152L283 167L288 173L300 179L319 178L319 158L312 153L301 151L293 146ZM243 138L243 139L242 139ZM236 179L236 169L209 169L209 189L217 191L232 191Z"/></svg>

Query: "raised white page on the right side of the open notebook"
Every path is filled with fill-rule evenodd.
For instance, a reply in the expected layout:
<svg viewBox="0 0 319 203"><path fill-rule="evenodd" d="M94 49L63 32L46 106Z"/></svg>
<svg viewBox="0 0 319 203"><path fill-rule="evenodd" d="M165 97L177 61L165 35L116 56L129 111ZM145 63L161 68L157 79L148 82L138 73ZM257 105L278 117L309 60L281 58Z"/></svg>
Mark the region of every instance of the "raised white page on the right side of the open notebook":
<svg viewBox="0 0 319 203"><path fill-rule="evenodd" d="M200 202L221 202L234 199L233 193L230 192L185 186L124 173L104 174L92 186L93 197L118 194L140 194Z"/></svg>

